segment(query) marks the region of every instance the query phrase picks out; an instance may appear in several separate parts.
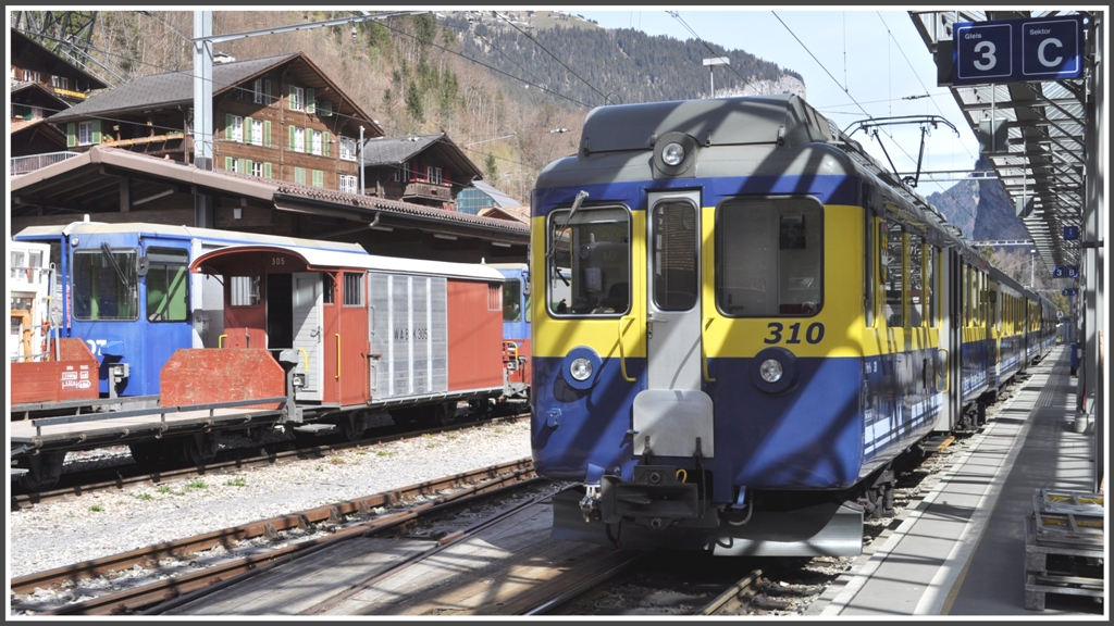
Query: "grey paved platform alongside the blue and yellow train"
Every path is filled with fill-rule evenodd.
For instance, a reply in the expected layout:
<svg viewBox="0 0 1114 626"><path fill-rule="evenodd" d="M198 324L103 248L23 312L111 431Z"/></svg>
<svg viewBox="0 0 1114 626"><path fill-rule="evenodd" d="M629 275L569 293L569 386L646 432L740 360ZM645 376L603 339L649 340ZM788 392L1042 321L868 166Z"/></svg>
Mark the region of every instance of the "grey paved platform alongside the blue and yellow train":
<svg viewBox="0 0 1114 626"><path fill-rule="evenodd" d="M1082 585L1073 578L1077 585L1072 587L1057 587L1064 577L1029 570L1037 567L1036 554L1065 551L1047 548L1062 544L1040 547L1027 538L1027 525L1034 532L1038 495L1094 492L1095 442L1089 430L1075 432L1076 379L1069 375L1068 351L1055 348L1028 372L1032 376L1019 392L971 438L966 456L906 511L881 547L864 555L853 575L832 586L833 597L821 615L1102 618L1106 614L1104 598L1094 597L1106 588L1105 559L1097 561L1100 578L1094 578L1092 567L1084 574L1091 578ZM1045 517L1061 512L1045 511ZM1107 536L1102 532L1098 550L1105 554ZM1092 558L1087 564L1094 566L1095 551L1087 554ZM1091 593L1057 593L1081 587Z"/></svg>

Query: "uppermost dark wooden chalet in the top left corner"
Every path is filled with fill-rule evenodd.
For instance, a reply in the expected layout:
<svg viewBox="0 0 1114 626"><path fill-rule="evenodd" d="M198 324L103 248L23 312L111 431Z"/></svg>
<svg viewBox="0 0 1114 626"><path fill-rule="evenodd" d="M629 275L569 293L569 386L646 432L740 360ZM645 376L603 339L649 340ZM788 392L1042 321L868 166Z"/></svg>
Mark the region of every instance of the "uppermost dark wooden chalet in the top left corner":
<svg viewBox="0 0 1114 626"><path fill-rule="evenodd" d="M84 102L90 91L108 87L14 28L9 28L9 32L10 82L33 82L68 104Z"/></svg>

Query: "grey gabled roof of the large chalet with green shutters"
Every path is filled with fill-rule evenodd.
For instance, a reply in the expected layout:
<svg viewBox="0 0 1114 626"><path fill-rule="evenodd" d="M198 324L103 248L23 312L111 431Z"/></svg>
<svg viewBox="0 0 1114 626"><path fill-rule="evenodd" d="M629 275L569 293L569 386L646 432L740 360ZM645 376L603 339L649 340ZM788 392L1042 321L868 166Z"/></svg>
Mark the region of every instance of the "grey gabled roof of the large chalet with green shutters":
<svg viewBox="0 0 1114 626"><path fill-rule="evenodd" d="M333 98L338 98L342 104L338 113L367 120L373 134L382 135L383 129L301 52L286 52L228 63L213 63L213 97L215 98L235 86L242 85L280 65L294 61L305 63L304 71L295 72L299 75L299 80L306 81L307 87L328 87L329 94ZM325 90L320 90L317 97L324 98ZM190 67L189 69L178 71L153 74L125 82L119 87L98 94L79 105L75 105L52 116L50 121L57 124L97 117L109 113L141 111L156 107L166 108L178 105L193 106L193 102L194 74Z"/></svg>

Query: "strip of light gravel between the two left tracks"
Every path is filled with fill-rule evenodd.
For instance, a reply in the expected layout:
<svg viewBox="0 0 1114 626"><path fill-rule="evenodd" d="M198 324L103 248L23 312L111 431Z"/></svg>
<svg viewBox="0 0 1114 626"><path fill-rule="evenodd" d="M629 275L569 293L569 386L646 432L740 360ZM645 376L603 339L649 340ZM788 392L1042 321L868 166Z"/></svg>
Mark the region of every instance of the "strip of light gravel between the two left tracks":
<svg viewBox="0 0 1114 626"><path fill-rule="evenodd" d="M495 422L9 511L8 577L528 458L529 428L527 419Z"/></svg>

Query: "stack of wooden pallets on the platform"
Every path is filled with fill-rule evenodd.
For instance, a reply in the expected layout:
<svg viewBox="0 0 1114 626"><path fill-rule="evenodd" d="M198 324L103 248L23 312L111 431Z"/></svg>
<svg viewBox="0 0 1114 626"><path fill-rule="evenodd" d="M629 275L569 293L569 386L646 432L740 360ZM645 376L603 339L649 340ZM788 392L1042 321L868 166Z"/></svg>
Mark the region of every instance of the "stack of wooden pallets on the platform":
<svg viewBox="0 0 1114 626"><path fill-rule="evenodd" d="M1036 490L1025 519L1025 608L1044 610L1046 594L1103 597L1103 526L1102 493Z"/></svg>

